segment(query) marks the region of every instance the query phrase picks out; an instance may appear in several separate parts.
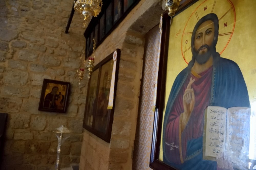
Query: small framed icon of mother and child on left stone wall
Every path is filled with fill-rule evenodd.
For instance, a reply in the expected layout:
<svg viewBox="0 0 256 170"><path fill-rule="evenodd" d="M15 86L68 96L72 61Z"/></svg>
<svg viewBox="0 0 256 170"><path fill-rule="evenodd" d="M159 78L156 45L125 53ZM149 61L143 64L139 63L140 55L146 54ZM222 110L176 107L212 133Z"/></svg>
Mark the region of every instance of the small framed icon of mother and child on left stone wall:
<svg viewBox="0 0 256 170"><path fill-rule="evenodd" d="M70 83L44 79L38 110L65 113Z"/></svg>

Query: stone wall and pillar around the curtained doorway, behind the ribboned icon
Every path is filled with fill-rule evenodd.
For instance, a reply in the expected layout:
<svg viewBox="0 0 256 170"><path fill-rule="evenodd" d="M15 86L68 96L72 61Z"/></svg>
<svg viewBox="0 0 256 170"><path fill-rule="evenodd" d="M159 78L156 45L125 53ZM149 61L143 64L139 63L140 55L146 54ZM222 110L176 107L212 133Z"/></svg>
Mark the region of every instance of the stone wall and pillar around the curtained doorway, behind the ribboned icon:
<svg viewBox="0 0 256 170"><path fill-rule="evenodd" d="M96 49L95 64L121 49L114 120L110 143L84 130L80 170L132 169L145 34L162 12L162 1L141 0Z"/></svg>

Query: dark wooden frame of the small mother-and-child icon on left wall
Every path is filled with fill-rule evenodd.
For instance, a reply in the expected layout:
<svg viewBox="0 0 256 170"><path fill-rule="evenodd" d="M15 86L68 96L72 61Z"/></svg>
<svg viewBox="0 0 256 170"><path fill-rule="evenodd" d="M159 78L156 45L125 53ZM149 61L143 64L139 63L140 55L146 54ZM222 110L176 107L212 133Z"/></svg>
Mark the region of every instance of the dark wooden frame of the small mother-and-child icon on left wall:
<svg viewBox="0 0 256 170"><path fill-rule="evenodd" d="M53 108L44 108L43 107L47 83L61 84L61 85L67 86L66 94L65 94L65 98L64 98L64 103L63 103L63 109L53 109ZM44 79L43 85L42 85L42 91L41 91L41 97L40 97L38 110L47 111L47 112L66 113L69 93L70 93L70 83L69 82L62 82L62 81L57 81L57 80Z"/></svg>

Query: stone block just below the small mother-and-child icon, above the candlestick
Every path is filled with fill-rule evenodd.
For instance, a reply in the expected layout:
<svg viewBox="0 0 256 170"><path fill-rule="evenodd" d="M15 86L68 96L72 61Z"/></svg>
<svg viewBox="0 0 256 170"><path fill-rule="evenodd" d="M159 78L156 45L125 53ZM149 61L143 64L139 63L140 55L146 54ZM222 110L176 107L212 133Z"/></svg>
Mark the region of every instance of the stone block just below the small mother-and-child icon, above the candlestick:
<svg viewBox="0 0 256 170"><path fill-rule="evenodd" d="M52 131L61 125L67 126L66 117L61 116L47 116L46 118L47 126L46 130Z"/></svg>

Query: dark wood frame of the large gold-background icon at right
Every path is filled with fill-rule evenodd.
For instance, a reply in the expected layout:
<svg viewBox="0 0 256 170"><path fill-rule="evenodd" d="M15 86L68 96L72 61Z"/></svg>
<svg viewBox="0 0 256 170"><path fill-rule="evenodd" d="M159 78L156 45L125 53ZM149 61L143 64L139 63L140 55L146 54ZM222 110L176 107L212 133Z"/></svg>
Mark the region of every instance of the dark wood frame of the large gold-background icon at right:
<svg viewBox="0 0 256 170"><path fill-rule="evenodd" d="M185 0L180 3L178 10L175 15L188 8L190 5L194 4L198 0ZM174 16L175 17L175 16ZM160 16L159 16L160 18ZM175 168L163 163L158 159L160 153L161 144L161 132L162 132L162 120L163 120L163 110L164 110L164 100L165 100L165 84L166 84L166 70L167 70L167 58L168 58L168 46L169 46L169 30L170 30L170 17L168 12L163 15L163 32L162 32L162 43L160 51L159 60L159 71L157 80L157 96L156 96L156 110L154 116L154 126L153 126L153 136L152 136L152 146L150 154L150 168L154 170L170 170Z"/></svg>

